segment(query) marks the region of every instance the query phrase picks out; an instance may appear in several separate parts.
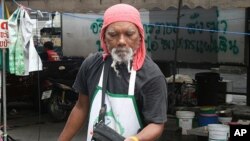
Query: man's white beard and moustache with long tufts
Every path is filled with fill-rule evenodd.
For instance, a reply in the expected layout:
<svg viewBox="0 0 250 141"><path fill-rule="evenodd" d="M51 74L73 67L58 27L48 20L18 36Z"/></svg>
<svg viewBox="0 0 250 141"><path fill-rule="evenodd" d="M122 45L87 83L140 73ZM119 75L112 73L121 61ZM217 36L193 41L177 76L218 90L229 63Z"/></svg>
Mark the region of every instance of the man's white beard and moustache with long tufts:
<svg viewBox="0 0 250 141"><path fill-rule="evenodd" d="M133 60L133 50L130 47L117 47L111 50L111 56L113 58L113 62L111 67L116 72L117 76L119 76L119 70L117 70L117 64L125 64L127 65L128 72L131 72L131 61Z"/></svg>

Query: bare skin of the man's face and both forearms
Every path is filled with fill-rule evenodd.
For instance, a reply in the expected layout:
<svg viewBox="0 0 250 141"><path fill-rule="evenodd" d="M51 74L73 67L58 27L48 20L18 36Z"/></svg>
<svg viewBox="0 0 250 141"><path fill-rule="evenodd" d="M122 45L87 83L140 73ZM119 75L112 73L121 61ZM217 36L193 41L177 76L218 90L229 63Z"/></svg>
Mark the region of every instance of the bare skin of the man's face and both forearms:
<svg viewBox="0 0 250 141"><path fill-rule="evenodd" d="M133 52L136 53L140 42L140 33L138 28L133 23L115 22L110 24L106 29L105 43L109 52L115 47L130 47ZM70 141L87 120L88 112L89 97L87 95L80 94L58 141ZM136 136L139 141L154 141L161 135L163 129L164 123L149 123L134 136ZM124 141L133 140L130 137L127 137Z"/></svg>

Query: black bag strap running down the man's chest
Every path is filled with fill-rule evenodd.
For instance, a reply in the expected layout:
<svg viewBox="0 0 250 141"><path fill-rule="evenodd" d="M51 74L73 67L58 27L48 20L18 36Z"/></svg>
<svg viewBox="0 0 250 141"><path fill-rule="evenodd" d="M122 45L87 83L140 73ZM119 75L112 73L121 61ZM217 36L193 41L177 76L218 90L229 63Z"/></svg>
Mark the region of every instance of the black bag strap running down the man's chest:
<svg viewBox="0 0 250 141"><path fill-rule="evenodd" d="M105 93L107 89L107 83L108 83L108 74L109 74L109 63L104 62L104 73L103 73L103 84L102 84L102 103L101 103L101 109L99 112L99 118L98 122L105 122L105 113L107 106L105 104Z"/></svg>

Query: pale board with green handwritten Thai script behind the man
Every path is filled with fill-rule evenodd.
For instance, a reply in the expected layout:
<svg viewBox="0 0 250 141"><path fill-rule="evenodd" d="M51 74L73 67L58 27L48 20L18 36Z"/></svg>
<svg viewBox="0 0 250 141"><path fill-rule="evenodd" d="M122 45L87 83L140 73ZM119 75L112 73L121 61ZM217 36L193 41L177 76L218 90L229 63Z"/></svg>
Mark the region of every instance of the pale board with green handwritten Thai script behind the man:
<svg viewBox="0 0 250 141"><path fill-rule="evenodd" d="M140 14L147 53L154 60L173 61L178 47L177 61L180 62L245 63L245 35L231 34L245 32L244 8L183 9L178 27L176 9ZM102 24L102 14L64 15L64 54L86 57L89 53L102 51L99 39Z"/></svg>

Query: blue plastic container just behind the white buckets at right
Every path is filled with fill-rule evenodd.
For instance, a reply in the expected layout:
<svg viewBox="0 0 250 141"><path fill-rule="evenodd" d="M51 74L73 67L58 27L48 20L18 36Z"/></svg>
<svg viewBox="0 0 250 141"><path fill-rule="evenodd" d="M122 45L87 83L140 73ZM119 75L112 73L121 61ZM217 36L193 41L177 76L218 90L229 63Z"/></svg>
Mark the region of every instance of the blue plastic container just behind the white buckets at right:
<svg viewBox="0 0 250 141"><path fill-rule="evenodd" d="M208 124L219 123L216 114L200 114L198 120L199 126L207 126Z"/></svg>

